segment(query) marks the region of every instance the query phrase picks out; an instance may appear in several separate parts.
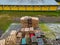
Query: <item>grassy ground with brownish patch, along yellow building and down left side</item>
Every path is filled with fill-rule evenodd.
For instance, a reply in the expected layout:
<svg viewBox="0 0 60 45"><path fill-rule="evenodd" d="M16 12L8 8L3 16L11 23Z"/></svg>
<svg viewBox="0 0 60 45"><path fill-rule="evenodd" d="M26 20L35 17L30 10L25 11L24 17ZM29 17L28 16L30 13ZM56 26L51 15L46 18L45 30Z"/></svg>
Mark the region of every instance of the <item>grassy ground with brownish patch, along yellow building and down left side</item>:
<svg viewBox="0 0 60 45"><path fill-rule="evenodd" d="M11 23L20 22L22 16L60 16L60 11L56 12L22 12L22 11L0 11L0 30L5 30Z"/></svg>

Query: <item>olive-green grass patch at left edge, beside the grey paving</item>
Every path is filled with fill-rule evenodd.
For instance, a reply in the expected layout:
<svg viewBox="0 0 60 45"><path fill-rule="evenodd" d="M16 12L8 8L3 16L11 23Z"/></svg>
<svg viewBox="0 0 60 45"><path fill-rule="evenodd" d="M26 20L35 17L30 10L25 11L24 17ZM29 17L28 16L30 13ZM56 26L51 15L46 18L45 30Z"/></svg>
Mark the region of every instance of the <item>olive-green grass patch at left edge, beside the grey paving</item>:
<svg viewBox="0 0 60 45"><path fill-rule="evenodd" d="M12 20L8 20L7 17L0 18L0 29L4 32L9 27L9 25L12 23Z"/></svg>

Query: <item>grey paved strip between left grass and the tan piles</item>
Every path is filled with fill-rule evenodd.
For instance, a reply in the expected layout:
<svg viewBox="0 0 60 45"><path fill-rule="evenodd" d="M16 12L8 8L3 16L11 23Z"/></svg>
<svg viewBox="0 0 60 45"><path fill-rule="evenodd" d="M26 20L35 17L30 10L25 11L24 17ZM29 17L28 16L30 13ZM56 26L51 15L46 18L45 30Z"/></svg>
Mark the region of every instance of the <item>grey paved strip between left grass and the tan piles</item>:
<svg viewBox="0 0 60 45"><path fill-rule="evenodd" d="M6 38L12 30L19 31L21 29L21 24L19 23L12 23L7 31L1 36L1 39Z"/></svg>

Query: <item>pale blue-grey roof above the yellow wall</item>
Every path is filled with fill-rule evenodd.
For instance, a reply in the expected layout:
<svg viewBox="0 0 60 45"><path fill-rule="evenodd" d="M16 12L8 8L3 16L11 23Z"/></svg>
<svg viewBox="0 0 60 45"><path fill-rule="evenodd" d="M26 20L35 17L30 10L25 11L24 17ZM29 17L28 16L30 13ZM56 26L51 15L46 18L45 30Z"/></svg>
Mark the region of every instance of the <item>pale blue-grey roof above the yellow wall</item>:
<svg viewBox="0 0 60 45"><path fill-rule="evenodd" d="M0 5L58 5L55 0L0 0Z"/></svg>

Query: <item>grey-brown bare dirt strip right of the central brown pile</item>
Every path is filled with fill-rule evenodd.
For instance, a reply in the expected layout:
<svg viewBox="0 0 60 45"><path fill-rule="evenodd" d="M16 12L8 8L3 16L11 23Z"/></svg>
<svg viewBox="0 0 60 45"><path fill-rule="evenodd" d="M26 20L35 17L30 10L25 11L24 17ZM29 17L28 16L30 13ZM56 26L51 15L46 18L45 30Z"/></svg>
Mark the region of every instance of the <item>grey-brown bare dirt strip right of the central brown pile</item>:
<svg viewBox="0 0 60 45"><path fill-rule="evenodd" d="M60 17L40 16L39 20L41 22L46 22L46 23L55 23L55 22L60 22Z"/></svg>

